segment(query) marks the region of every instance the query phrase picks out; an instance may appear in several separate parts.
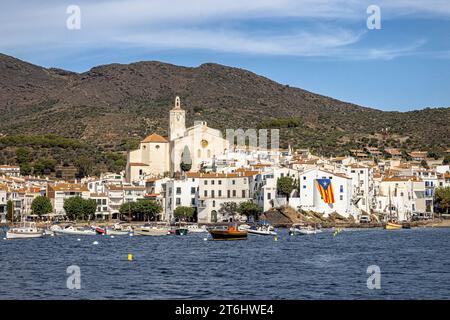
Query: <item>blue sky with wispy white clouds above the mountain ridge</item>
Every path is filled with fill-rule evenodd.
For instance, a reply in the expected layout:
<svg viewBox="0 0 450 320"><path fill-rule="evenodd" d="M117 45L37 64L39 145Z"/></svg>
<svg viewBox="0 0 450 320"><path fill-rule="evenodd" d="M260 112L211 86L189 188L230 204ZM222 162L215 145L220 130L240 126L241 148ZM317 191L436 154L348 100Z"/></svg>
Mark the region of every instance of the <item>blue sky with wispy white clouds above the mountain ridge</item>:
<svg viewBox="0 0 450 320"><path fill-rule="evenodd" d="M80 30L66 27L69 5ZM0 52L78 72L215 62L382 110L450 106L448 0L3 1Z"/></svg>

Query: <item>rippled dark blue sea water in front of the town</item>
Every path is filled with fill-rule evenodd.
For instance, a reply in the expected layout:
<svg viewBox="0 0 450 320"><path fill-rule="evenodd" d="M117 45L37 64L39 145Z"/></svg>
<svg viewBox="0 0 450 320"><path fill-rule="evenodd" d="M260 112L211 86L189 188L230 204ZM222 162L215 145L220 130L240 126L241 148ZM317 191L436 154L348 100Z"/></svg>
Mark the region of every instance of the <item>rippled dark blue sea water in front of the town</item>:
<svg viewBox="0 0 450 320"><path fill-rule="evenodd" d="M450 297L450 229L279 234L214 242L206 234L1 240L2 233L0 299ZM67 289L70 265L80 267L79 290ZM381 289L367 288L370 265L381 269Z"/></svg>

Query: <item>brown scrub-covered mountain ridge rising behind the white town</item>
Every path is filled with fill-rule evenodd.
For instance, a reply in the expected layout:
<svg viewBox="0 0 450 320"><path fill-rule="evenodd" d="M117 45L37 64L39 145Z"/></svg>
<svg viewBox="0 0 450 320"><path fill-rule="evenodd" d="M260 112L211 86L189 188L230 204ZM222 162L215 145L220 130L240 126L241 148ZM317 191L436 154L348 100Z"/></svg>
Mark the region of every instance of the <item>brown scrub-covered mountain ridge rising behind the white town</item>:
<svg viewBox="0 0 450 320"><path fill-rule="evenodd" d="M385 112L212 63L148 61L74 73L0 54L3 137L54 134L95 150L124 151L151 132L167 133L176 95L187 125L201 119L222 130L278 127L282 146L322 154L369 144L436 152L450 146L450 108Z"/></svg>

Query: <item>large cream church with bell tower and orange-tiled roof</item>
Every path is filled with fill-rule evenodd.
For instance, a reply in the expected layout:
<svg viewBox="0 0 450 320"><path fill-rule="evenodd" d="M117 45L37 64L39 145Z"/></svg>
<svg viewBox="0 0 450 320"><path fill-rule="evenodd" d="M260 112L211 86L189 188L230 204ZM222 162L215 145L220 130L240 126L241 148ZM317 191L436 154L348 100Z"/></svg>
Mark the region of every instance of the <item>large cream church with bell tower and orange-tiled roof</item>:
<svg viewBox="0 0 450 320"><path fill-rule="evenodd" d="M228 149L229 143L222 137L222 132L209 128L206 122L195 121L192 127L186 128L186 111L181 108L180 98L176 97L170 110L169 136L153 133L139 143L139 149L128 152L127 181L138 181L147 176L173 176L181 171L182 162L191 162L191 171L198 171L203 164Z"/></svg>

